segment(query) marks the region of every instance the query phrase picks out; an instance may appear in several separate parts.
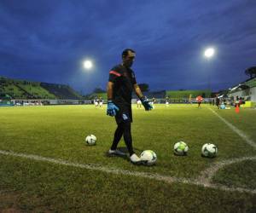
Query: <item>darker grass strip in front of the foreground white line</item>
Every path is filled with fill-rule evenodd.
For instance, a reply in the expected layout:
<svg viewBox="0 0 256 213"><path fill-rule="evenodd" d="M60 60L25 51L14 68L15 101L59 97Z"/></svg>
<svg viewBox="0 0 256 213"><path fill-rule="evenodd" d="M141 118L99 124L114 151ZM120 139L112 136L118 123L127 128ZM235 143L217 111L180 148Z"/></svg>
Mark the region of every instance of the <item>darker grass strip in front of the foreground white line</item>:
<svg viewBox="0 0 256 213"><path fill-rule="evenodd" d="M0 209L24 212L253 212L255 195L2 157Z"/></svg>

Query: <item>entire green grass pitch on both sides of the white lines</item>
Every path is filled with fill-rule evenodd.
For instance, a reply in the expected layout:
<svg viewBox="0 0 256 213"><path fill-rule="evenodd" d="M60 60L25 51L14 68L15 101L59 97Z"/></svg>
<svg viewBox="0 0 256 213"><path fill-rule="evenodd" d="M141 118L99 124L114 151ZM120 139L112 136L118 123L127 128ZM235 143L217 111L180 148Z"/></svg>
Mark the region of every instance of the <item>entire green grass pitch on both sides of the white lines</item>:
<svg viewBox="0 0 256 213"><path fill-rule="evenodd" d="M154 150L158 160L152 167L106 157L116 124L114 118L106 116L106 108L94 106L0 107L0 150L194 180L213 163L256 155L255 149L207 107L155 105L152 112L133 107L133 145L137 154ZM233 109L212 109L251 139L255 138L253 110L242 109L236 114ZM85 145L84 138L89 134L96 135L96 146ZM189 145L188 156L173 155L177 141ZM207 142L218 146L217 158L201 158L201 146ZM125 147L124 141L119 147ZM241 172L239 168L246 164L251 164L251 170ZM228 187L253 189L255 169L255 162L231 164L219 170L213 181ZM251 193L167 184L0 154L0 210L253 212L255 199L256 195Z"/></svg>

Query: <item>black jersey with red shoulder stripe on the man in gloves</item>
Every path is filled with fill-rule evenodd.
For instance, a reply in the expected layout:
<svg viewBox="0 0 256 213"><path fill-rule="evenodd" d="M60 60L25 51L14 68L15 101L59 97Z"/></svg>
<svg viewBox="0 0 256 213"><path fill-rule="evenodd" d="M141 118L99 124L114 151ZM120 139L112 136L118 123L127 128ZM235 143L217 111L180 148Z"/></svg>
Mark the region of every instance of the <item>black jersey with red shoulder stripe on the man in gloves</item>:
<svg viewBox="0 0 256 213"><path fill-rule="evenodd" d="M136 78L131 68L114 66L109 72L108 81L113 82L113 102L131 105L131 95Z"/></svg>

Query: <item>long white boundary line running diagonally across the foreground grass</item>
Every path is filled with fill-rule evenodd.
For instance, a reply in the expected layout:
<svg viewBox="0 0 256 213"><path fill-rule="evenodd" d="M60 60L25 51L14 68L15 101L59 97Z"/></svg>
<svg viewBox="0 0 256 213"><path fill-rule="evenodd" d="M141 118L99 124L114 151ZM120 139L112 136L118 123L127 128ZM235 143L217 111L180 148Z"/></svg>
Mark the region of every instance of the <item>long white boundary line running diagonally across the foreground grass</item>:
<svg viewBox="0 0 256 213"><path fill-rule="evenodd" d="M14 156L14 157L20 157L20 158L27 158L27 159L32 159L32 160L41 161L41 162L48 162L48 163L52 163L52 164L72 166L72 167L77 167L77 168L86 169L86 170L97 170L97 171L102 171L102 172L106 172L109 174L149 178L149 179L153 179L156 181L164 181L169 184L173 183L173 182L181 182L181 183L185 183L185 184L193 184L193 185L197 185L197 186L217 188L217 189L221 189L224 191L232 191L232 192L240 192L240 193L255 193L256 194L256 190L249 190L249 189L240 188L240 187L225 187L224 185L211 184L211 183L209 183L209 181L205 181L203 178L201 178L201 179L198 178L196 180L192 180L192 179L177 178L177 177L172 177L172 176L161 176L159 174L152 174L152 173L147 173L147 172L119 170L116 168L109 168L106 166L96 165L96 164L76 164L76 163L70 163L70 162L67 162L67 161L61 160L61 159L45 158L45 157L41 157L38 155L14 153L14 152L8 152L8 151L3 151L3 150L0 150L0 154ZM245 159L243 159L243 160L245 160ZM204 176L204 175L201 175L201 176Z"/></svg>

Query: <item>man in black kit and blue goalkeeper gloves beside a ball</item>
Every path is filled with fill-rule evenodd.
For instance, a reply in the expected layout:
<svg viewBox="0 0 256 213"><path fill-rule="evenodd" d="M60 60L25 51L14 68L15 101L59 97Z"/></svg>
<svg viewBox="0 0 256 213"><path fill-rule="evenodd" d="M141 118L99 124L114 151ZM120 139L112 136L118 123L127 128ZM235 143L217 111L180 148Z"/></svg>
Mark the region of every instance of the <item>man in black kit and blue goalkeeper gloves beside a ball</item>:
<svg viewBox="0 0 256 213"><path fill-rule="evenodd" d="M117 145L124 135L125 145L130 154L131 163L141 164L142 161L137 154L134 153L131 138L131 95L132 90L136 92L138 98L142 101L145 110L151 110L152 106L143 97L142 91L137 85L134 72L131 70L133 61L135 60L135 51L125 49L122 53L122 63L114 66L109 72L108 78L108 108L107 115L114 116L118 125L115 130L113 143L108 151L110 155L125 156L125 153L117 150Z"/></svg>

